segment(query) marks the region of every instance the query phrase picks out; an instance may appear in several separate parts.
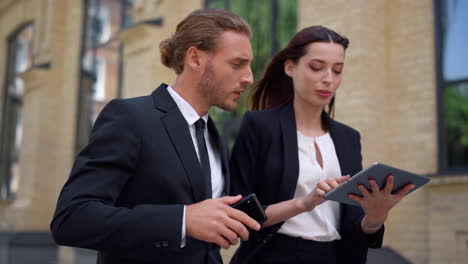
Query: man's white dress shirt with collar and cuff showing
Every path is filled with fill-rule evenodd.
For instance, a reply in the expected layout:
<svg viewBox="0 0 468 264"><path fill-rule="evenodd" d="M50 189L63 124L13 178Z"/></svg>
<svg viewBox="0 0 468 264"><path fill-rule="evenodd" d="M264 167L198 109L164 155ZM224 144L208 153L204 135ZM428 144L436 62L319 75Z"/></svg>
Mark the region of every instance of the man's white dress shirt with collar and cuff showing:
<svg viewBox="0 0 468 264"><path fill-rule="evenodd" d="M171 86L167 87L167 91L171 95L172 99L174 99L177 107L179 108L180 112L184 116L187 124L189 126L190 135L192 137L193 146L195 147L195 151L197 152L198 159L200 160L200 155L198 154L198 145L197 145L197 138L195 136L195 122L200 119L197 111L193 109L193 107L184 100L177 92L172 89ZM202 116L205 124L208 124L208 114ZM205 142L206 148L208 150L208 158L210 160L210 169L211 169L211 190L213 193L212 198L218 198L223 195L223 187L224 187L224 177L223 177L223 170L221 164L221 156L219 154L219 150L215 147L216 142L213 141L213 138L208 135L208 128L205 127ZM184 206L184 216L182 220L182 243L181 247L185 246L185 206Z"/></svg>

